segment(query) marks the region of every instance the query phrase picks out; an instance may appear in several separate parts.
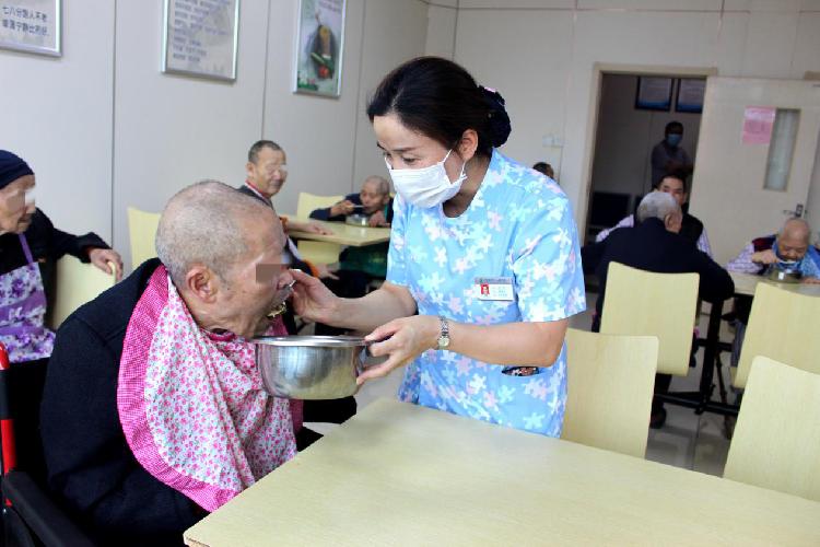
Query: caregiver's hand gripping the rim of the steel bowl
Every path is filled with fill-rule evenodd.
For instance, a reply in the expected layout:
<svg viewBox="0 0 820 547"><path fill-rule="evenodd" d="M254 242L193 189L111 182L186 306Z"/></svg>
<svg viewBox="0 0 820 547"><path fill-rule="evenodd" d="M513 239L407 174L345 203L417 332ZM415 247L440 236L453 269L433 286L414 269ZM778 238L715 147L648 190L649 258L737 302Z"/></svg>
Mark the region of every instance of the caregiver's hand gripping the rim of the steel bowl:
<svg viewBox="0 0 820 547"><path fill-rule="evenodd" d="M376 328L364 338L374 342L370 347L370 352L374 357L389 356L389 358L382 364L368 366L359 375L356 383L361 385L367 380L386 376L394 369L435 348L440 331L438 317L435 315L401 317Z"/></svg>

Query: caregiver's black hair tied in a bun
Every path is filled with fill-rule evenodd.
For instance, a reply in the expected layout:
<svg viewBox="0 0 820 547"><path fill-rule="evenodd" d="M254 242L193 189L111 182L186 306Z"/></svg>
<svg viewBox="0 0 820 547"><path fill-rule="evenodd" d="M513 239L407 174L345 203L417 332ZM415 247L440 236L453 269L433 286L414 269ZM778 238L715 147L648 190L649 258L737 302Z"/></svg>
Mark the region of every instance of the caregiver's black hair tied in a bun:
<svg viewBox="0 0 820 547"><path fill-rule="evenodd" d="M388 114L448 149L473 129L477 153L488 158L511 131L501 94L478 85L467 70L441 57L412 59L382 80L367 105L367 117L372 123L375 116Z"/></svg>

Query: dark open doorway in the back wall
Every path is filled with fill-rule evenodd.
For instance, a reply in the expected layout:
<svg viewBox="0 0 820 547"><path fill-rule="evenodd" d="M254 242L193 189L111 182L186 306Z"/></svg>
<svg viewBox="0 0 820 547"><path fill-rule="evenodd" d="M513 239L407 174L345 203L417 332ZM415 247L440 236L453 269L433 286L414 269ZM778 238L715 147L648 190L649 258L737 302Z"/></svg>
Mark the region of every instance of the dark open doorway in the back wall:
<svg viewBox="0 0 820 547"><path fill-rule="evenodd" d="M599 72L584 243L594 242L601 230L632 214L652 189L652 150L664 140L665 127L670 121L683 126L679 148L694 162L701 108L696 103L686 102L684 96L693 84L700 83L705 90L707 73L707 70L701 74ZM649 84L657 88L654 94L646 93ZM690 185L691 179L690 175ZM689 190L691 195L691 187Z"/></svg>

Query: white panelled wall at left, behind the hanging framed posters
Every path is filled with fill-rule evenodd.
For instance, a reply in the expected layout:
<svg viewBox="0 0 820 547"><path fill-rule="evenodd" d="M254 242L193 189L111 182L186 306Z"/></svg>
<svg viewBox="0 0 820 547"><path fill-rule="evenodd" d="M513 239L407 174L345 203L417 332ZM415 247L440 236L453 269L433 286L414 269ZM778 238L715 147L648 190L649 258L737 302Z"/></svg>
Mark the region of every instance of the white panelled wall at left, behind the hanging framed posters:
<svg viewBox="0 0 820 547"><path fill-rule="evenodd" d="M242 184L260 138L288 152L281 211L295 211L300 189L358 188L385 173L364 97L423 54L427 3L348 0L338 100L291 91L296 5L242 0L237 78L219 82L161 73L162 0L63 2L61 58L0 49L0 148L30 161L59 228L97 232L127 264L128 206L159 211L201 178Z"/></svg>

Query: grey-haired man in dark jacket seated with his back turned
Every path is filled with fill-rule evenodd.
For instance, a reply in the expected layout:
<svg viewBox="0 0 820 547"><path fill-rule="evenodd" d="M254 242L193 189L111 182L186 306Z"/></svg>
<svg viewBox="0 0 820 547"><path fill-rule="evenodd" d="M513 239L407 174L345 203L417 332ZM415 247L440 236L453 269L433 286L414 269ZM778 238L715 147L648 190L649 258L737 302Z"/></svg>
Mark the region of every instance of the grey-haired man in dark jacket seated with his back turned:
<svg viewBox="0 0 820 547"><path fill-rule="evenodd" d="M593 330L600 326L607 288L609 263L617 261L659 274L695 272L700 275L699 294L707 301L724 301L735 292L735 283L726 270L712 258L679 235L682 212L669 194L653 191L637 207L639 224L621 228L600 243L582 248L584 271L595 272L600 280L600 293L595 305L597 316ZM655 376L655 393L669 389L671 376ZM666 421L666 410L660 400L653 401L651 426L659 428Z"/></svg>

